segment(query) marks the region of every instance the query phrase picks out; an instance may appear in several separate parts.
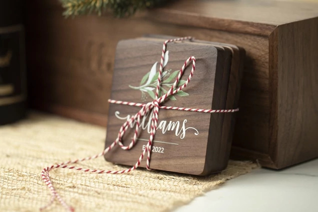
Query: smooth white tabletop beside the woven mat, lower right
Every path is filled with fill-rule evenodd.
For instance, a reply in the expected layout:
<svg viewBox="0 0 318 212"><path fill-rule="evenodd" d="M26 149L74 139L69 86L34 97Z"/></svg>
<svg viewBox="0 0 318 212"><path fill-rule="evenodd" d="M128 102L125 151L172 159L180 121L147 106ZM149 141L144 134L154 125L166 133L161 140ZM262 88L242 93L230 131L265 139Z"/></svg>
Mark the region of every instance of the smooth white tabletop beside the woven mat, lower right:
<svg viewBox="0 0 318 212"><path fill-rule="evenodd" d="M175 210L188 211L318 212L318 159L280 171L255 169Z"/></svg>

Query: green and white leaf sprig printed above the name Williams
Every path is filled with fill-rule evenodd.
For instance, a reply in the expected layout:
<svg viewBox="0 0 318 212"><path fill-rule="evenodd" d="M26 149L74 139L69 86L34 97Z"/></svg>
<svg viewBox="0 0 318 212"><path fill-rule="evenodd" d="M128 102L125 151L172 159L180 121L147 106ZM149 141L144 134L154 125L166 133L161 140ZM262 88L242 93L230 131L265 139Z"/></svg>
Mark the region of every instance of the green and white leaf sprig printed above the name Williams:
<svg viewBox="0 0 318 212"><path fill-rule="evenodd" d="M164 56L164 63L163 63L163 67L165 67L168 63L169 60L169 51L166 51L165 56ZM157 64L158 62L155 62L150 71L147 72L141 79L140 81L140 86L132 86L129 85L129 87L133 88L133 89L138 89L141 91L141 99L145 100L148 96L147 94L155 99L155 91L157 88L157 81L158 81L158 76L159 76L159 71L157 71ZM170 89L170 87L173 85L174 83L174 79L176 78L176 76L178 75L180 70L175 70L172 71L172 69L168 69L168 70L164 70L162 72L162 83L161 83L161 88L160 88L160 93L159 96L161 96L161 94L166 94L168 92L168 90ZM177 87L183 85L186 82L186 80L182 80L180 79ZM177 88L176 87L176 88ZM176 89L175 88L175 89ZM189 95L188 93L180 90L176 93L179 96L187 96ZM171 100L177 100L175 96L170 95L169 98Z"/></svg>

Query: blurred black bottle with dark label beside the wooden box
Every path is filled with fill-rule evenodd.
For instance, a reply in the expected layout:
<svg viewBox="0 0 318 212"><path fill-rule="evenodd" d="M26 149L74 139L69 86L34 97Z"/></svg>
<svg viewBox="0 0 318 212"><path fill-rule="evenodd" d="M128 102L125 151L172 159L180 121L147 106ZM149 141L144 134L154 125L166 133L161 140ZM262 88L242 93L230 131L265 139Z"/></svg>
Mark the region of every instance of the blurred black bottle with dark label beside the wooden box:
<svg viewBox="0 0 318 212"><path fill-rule="evenodd" d="M0 0L0 124L26 113L24 0Z"/></svg>

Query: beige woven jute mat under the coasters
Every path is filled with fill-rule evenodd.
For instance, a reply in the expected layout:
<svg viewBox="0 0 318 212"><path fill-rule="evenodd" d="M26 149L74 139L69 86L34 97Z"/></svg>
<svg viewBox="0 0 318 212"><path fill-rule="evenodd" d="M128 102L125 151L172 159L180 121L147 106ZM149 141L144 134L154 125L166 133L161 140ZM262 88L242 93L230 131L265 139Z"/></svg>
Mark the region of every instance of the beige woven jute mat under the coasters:
<svg viewBox="0 0 318 212"><path fill-rule="evenodd" d="M101 152L105 131L35 112L18 123L0 126L0 211L38 211L51 197L40 177L42 168ZM124 168L102 157L77 166ZM119 175L56 169L50 175L57 191L76 211L170 211L255 167L251 162L230 161L226 170L207 177L143 168ZM55 202L47 211L65 209Z"/></svg>

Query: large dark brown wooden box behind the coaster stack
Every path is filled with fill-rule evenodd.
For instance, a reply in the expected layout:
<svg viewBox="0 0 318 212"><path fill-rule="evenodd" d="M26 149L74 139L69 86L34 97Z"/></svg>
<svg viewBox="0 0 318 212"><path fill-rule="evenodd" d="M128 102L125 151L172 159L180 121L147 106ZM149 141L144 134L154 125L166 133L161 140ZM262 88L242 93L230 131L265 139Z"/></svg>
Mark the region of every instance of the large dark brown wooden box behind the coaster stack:
<svg viewBox="0 0 318 212"><path fill-rule="evenodd" d="M117 41L191 35L246 50L232 157L283 168L318 156L318 2L175 0L124 19L28 5L33 107L106 126Z"/></svg>

